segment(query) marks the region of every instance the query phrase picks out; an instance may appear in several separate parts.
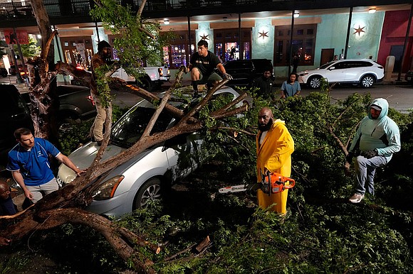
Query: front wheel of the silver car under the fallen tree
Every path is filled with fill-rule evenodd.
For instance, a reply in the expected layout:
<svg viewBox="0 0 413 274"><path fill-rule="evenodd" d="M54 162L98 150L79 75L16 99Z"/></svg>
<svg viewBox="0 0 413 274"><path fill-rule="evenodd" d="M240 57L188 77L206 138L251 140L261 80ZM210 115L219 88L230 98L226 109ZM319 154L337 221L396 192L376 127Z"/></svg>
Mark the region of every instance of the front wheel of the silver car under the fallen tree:
<svg viewBox="0 0 413 274"><path fill-rule="evenodd" d="M150 201L161 199L161 180L152 178L147 180L135 196L134 209L145 209Z"/></svg>

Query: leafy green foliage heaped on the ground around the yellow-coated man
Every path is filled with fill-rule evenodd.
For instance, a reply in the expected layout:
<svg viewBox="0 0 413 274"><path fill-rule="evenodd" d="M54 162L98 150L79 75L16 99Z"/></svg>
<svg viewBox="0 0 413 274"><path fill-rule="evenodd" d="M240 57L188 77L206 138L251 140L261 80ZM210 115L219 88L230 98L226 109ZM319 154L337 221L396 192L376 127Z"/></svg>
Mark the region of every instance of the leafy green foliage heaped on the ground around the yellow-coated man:
<svg viewBox="0 0 413 274"><path fill-rule="evenodd" d="M347 203L353 177L344 175L344 153L332 133L347 146L370 101L369 94L355 93L330 104L328 91L276 102L253 95L249 111L221 124L209 116L229 102L219 97L199 114L209 128L202 132L209 163L181 184L188 190L172 190L162 203L117 225L162 246L157 255L138 247L157 273L412 273L413 167L406 160L413 156L412 114L390 110L402 131L402 150L377 170L375 197ZM254 193L216 193L224 185L256 180L256 139L246 132L256 133L263 106L286 121L295 141L296 187L288 192L285 216L256 208ZM65 237L81 233L84 242L100 242L86 239L90 231L65 230ZM197 253L194 246L205 236L211 244ZM109 253L108 246L93 249L93 262L103 272L121 265Z"/></svg>

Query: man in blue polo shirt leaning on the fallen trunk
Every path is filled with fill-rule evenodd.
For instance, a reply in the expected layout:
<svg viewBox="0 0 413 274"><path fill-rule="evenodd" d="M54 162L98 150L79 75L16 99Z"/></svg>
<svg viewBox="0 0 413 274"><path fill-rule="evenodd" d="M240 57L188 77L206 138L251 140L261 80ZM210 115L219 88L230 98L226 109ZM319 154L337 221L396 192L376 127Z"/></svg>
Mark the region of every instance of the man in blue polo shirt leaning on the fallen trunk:
<svg viewBox="0 0 413 274"><path fill-rule="evenodd" d="M67 165L77 175L85 172L76 167L49 141L34 138L28 128L16 129L14 137L19 143L9 151L7 170L11 171L11 175L21 186L24 195L32 202L41 199L42 192L49 194L59 188L48 162L48 154Z"/></svg>

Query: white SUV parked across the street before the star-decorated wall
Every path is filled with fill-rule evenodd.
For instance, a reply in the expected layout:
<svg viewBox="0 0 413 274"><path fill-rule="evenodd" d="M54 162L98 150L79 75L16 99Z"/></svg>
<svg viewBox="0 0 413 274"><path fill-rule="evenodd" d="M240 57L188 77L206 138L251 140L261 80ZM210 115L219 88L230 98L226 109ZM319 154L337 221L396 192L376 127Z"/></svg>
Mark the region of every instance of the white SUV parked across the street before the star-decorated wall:
<svg viewBox="0 0 413 274"><path fill-rule="evenodd" d="M298 82L307 84L313 89L321 85L321 78L329 83L360 84L361 87L372 87L385 77L382 65L368 59L345 59L328 62L315 70L298 72Z"/></svg>

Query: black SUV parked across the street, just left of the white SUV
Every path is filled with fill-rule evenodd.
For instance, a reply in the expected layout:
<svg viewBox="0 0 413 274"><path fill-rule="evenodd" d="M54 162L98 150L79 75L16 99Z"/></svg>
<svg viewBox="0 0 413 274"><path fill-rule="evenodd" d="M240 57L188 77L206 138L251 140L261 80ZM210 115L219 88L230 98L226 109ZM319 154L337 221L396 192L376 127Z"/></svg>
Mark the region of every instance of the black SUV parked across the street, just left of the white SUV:
<svg viewBox="0 0 413 274"><path fill-rule="evenodd" d="M234 80L228 82L229 86L246 86L255 78L263 75L266 67L273 67L273 63L268 59L234 60L224 63L226 73ZM272 75L273 78L274 75Z"/></svg>

